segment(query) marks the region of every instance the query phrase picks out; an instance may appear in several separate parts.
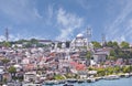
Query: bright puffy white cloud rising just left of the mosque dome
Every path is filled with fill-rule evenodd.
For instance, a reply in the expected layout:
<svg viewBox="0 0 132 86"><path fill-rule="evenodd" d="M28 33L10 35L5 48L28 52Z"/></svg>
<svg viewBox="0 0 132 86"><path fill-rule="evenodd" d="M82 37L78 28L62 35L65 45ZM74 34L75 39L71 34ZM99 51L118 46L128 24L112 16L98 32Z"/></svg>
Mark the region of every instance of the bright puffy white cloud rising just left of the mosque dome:
<svg viewBox="0 0 132 86"><path fill-rule="evenodd" d="M61 34L56 40L69 40L75 30L81 28L84 19L74 13L66 12L64 9L57 11L57 23L59 25Z"/></svg>

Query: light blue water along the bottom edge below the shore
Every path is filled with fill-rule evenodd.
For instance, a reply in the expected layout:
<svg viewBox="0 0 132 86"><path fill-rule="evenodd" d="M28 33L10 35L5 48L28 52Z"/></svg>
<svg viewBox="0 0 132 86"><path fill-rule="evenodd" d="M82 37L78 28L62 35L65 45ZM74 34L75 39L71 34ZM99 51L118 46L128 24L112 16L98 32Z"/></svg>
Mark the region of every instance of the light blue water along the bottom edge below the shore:
<svg viewBox="0 0 132 86"><path fill-rule="evenodd" d="M95 83L82 83L82 84L75 83L73 85L74 86L132 86L132 77L120 78L120 79L114 79L114 80L101 79ZM63 85L53 85L53 86L63 86Z"/></svg>

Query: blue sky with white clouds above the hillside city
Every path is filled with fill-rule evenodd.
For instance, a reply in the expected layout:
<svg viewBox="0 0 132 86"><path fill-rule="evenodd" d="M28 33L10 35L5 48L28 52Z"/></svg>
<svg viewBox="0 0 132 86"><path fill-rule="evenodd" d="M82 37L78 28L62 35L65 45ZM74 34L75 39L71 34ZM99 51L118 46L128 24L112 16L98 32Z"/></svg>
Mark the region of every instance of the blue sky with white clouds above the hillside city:
<svg viewBox="0 0 132 86"><path fill-rule="evenodd" d="M0 41L66 41L91 29L92 41L132 43L132 0L0 0Z"/></svg>

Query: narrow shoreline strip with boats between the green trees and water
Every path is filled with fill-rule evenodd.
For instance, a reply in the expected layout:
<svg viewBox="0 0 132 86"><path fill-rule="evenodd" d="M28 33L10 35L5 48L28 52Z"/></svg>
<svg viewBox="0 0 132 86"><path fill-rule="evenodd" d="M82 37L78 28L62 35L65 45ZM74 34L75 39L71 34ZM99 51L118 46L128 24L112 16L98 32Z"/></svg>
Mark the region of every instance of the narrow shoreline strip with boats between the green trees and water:
<svg viewBox="0 0 132 86"><path fill-rule="evenodd" d="M46 83L43 83L42 85L59 85L59 84L65 84L65 83L68 83L68 84L75 84L75 83L78 83L78 84L81 84L81 83L95 83L95 82L98 82L100 79L105 79L105 80L114 80L114 79L120 79L120 78L129 78L129 77L132 77L132 73L130 73L128 75L128 73L125 74L114 74L114 75L108 75L108 76L100 76L100 77L88 77L88 78L84 78L84 79L64 79L63 83L61 83L59 80L56 80L55 83L52 83L50 84L50 80L48 80L48 84Z"/></svg>

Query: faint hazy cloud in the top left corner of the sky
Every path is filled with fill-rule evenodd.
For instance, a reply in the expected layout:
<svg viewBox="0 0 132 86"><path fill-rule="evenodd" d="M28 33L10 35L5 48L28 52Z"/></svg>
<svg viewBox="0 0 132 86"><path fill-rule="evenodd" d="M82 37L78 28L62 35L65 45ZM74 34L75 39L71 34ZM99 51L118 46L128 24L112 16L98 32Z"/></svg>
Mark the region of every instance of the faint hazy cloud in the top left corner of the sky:
<svg viewBox="0 0 132 86"><path fill-rule="evenodd" d="M42 18L31 0L0 0L0 12L15 23L31 22Z"/></svg>

